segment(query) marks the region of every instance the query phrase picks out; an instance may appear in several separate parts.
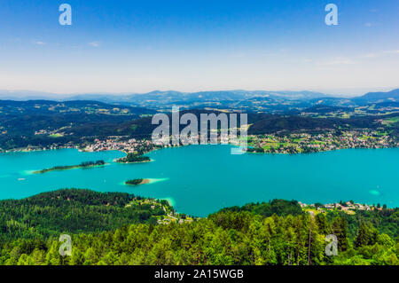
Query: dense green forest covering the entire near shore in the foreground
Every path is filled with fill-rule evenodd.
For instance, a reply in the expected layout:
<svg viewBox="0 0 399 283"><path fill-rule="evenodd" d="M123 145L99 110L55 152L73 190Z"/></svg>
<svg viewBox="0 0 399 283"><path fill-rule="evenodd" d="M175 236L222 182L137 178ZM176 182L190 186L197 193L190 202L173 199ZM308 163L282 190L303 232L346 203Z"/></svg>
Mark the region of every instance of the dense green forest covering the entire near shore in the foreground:
<svg viewBox="0 0 399 283"><path fill-rule="evenodd" d="M156 224L164 211L138 199L61 190L2 200L0 264L399 264L397 208L311 216L272 200ZM70 256L59 255L60 233L72 236ZM325 255L328 234L338 255Z"/></svg>

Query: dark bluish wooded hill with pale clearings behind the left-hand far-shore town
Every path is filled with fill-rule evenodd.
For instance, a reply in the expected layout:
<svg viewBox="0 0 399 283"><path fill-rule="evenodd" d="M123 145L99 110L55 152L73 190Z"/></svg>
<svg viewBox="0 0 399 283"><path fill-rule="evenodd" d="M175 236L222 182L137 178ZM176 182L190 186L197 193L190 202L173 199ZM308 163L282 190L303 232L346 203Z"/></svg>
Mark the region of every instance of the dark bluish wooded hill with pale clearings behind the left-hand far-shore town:
<svg viewBox="0 0 399 283"><path fill-rule="evenodd" d="M0 100L0 150L76 145L121 135L119 125L154 113L98 101Z"/></svg>

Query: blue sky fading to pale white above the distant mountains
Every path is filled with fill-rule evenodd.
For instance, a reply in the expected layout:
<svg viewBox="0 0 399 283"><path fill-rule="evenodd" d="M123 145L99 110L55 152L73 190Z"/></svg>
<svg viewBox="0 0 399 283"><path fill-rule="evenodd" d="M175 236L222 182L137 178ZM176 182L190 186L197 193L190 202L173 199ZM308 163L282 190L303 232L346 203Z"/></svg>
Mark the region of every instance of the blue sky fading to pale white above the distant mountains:
<svg viewBox="0 0 399 283"><path fill-rule="evenodd" d="M398 0L1 0L0 90L390 90L398 15Z"/></svg>

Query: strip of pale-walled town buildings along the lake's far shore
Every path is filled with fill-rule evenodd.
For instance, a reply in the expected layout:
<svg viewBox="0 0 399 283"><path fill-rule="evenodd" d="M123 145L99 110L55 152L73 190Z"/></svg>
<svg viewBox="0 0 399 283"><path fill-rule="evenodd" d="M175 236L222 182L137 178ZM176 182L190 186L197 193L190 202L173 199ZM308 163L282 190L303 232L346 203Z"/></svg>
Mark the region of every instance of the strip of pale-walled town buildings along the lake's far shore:
<svg viewBox="0 0 399 283"><path fill-rule="evenodd" d="M200 137L198 137L200 140ZM321 133L274 133L249 135L247 153L318 153L348 148L389 148L399 147L399 141L380 130L329 130ZM233 141L232 145L235 145ZM77 148L85 152L121 151L123 153L149 153L154 149L176 146L155 145L151 139L129 138L129 136L110 136L94 138L92 142L83 141L80 145L66 143L48 146L31 146L16 148L4 152L30 152L37 150L53 150Z"/></svg>

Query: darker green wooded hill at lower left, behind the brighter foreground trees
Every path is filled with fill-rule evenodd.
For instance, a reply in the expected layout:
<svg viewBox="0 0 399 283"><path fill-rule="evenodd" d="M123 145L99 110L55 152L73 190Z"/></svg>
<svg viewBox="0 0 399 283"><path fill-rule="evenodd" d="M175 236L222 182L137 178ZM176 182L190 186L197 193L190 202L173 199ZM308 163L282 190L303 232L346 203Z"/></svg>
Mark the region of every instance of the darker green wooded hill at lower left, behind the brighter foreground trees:
<svg viewBox="0 0 399 283"><path fill-rule="evenodd" d="M62 232L101 232L128 224L156 223L166 200L153 206L128 193L59 190L22 200L0 200L0 241L46 239ZM146 200L146 199L143 199Z"/></svg>

